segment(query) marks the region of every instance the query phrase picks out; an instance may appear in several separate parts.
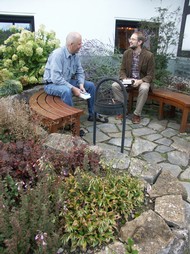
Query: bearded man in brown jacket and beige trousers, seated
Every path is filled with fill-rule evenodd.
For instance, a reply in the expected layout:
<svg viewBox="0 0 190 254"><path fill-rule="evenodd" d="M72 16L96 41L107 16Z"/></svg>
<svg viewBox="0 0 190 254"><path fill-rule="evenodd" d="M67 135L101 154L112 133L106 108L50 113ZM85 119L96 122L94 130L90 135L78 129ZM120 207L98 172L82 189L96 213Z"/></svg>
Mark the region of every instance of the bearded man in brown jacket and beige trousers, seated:
<svg viewBox="0 0 190 254"><path fill-rule="evenodd" d="M119 79L133 79L133 87L137 88L139 93L137 97L136 109L132 117L132 122L138 124L141 121L141 112L147 100L148 92L152 88L154 79L154 55L143 47L145 36L142 32L134 32L129 39L129 48L124 52L120 68ZM117 83L112 85L115 99L123 102L123 93ZM117 119L122 119L118 115Z"/></svg>

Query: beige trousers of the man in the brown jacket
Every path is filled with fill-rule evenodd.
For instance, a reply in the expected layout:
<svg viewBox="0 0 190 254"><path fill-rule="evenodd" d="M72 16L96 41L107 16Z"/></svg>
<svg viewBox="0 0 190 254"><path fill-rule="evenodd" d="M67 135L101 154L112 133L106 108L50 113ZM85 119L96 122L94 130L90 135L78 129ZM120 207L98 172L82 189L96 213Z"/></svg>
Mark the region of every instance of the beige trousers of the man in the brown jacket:
<svg viewBox="0 0 190 254"><path fill-rule="evenodd" d="M137 116L141 116L143 106L148 98L149 88L150 88L150 84L146 83L146 82L143 82L139 86L139 94L137 97L136 108L134 111L134 114ZM114 82L112 84L112 90L113 90L115 99L118 101L124 102L123 93L122 93L121 87L118 83Z"/></svg>

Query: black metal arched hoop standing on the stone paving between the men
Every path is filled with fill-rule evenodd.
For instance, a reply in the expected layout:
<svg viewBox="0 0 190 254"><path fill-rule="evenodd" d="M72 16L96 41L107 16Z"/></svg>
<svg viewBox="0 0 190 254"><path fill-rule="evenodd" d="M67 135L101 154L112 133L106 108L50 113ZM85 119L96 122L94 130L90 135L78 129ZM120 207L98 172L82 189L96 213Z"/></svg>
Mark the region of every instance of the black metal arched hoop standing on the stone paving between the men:
<svg viewBox="0 0 190 254"><path fill-rule="evenodd" d="M120 85L123 91L124 102L117 101L114 98L112 91L112 83L116 82ZM115 78L104 78L98 82L95 92L94 102L94 124L93 124L93 144L96 145L96 117L97 114L102 115L117 115L123 114L121 153L124 150L125 142L125 125L126 125L126 107L127 107L127 92L124 85Z"/></svg>

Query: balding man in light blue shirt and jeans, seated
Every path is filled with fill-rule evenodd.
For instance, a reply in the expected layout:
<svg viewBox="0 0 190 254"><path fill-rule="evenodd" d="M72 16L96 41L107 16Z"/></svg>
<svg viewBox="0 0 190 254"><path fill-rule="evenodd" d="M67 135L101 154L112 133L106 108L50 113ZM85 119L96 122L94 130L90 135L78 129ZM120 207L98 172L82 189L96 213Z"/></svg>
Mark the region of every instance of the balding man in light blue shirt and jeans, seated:
<svg viewBox="0 0 190 254"><path fill-rule="evenodd" d="M45 66L44 90L47 94L59 96L66 104L73 106L72 95L80 96L87 92L91 98L88 103L88 121L93 121L95 85L85 80L78 52L82 46L82 37L77 32L69 33L66 46L55 49ZM97 115L97 121L106 123L108 119Z"/></svg>

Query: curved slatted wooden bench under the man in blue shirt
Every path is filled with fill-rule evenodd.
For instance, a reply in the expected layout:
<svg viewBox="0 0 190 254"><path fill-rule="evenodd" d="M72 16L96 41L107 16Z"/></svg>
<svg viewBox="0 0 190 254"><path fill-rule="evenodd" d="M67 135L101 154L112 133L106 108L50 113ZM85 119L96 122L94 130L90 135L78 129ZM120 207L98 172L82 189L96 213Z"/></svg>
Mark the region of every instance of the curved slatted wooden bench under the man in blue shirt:
<svg viewBox="0 0 190 254"><path fill-rule="evenodd" d="M43 89L30 97L29 106L34 117L39 118L50 133L70 124L73 135L79 136L83 110L68 106L59 97L46 94Z"/></svg>

